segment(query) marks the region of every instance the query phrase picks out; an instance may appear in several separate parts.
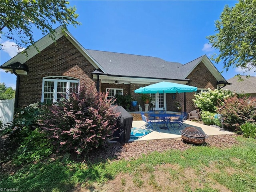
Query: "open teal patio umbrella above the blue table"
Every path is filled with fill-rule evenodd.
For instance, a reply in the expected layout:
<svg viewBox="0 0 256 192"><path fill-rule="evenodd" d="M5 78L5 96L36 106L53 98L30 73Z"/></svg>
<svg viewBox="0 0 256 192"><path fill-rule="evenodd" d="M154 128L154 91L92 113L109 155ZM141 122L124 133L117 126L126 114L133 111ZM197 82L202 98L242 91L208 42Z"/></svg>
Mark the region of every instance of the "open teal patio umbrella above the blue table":
<svg viewBox="0 0 256 192"><path fill-rule="evenodd" d="M197 87L171 82L159 82L134 90L135 93L186 93L196 92ZM186 95L184 94L184 110L186 112Z"/></svg>

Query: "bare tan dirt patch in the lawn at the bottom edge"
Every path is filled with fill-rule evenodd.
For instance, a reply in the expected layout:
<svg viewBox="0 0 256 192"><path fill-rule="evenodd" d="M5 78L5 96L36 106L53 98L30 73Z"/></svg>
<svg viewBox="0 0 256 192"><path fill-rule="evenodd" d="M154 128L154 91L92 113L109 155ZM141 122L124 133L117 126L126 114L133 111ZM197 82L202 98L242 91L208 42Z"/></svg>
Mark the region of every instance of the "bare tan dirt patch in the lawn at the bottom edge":
<svg viewBox="0 0 256 192"><path fill-rule="evenodd" d="M172 166L168 166L171 168ZM168 168L167 168L168 169ZM210 170L208 170L210 171ZM114 180L107 182L99 191L112 192L186 192L188 190L203 189L205 187L219 190L220 192L230 192L225 186L214 182L205 175L197 174L194 169L188 168L182 173L172 175L166 172L166 165L156 166L153 173L140 173L140 175L119 174ZM141 186L136 184L136 181L141 181Z"/></svg>

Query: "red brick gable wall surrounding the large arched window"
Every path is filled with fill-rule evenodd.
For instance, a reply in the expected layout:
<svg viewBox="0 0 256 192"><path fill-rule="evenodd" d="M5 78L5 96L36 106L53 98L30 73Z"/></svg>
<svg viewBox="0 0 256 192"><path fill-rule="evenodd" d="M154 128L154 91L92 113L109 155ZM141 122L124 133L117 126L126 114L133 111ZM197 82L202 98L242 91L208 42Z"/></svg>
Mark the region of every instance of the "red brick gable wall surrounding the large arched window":
<svg viewBox="0 0 256 192"><path fill-rule="evenodd" d="M78 78L81 85L96 86L96 80L92 80L91 74L95 68L65 36L25 64L29 72L20 75L18 107L41 102L42 80L46 76L70 76Z"/></svg>

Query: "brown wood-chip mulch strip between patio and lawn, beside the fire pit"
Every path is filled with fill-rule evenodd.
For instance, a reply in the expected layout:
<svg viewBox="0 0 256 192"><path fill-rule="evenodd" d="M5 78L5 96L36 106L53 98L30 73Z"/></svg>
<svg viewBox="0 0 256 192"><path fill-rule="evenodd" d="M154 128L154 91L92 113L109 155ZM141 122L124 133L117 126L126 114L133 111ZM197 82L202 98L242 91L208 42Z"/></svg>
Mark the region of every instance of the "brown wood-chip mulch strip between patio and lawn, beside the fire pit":
<svg viewBox="0 0 256 192"><path fill-rule="evenodd" d="M206 138L204 145L228 148L238 143L236 137L238 137L236 134L209 136ZM195 145L183 142L181 138L111 143L110 145L104 146L104 148L98 148L92 151L88 160L91 162L104 161L107 159L128 160L130 158L138 158L141 154L148 154L154 151L163 152L170 149L186 150L191 146Z"/></svg>

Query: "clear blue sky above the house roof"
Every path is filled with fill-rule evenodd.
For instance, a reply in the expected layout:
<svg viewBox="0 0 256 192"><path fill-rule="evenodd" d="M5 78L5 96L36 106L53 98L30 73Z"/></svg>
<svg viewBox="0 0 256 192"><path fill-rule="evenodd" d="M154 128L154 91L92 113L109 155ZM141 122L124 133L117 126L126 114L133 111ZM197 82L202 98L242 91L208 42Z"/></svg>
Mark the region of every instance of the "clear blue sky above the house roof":
<svg viewBox="0 0 256 192"><path fill-rule="evenodd" d="M69 32L86 49L159 57L186 64L217 50L206 36L215 34L214 22L224 6L237 1L70 1L76 6L81 26L68 26ZM54 25L55 28L58 25ZM34 30L35 40L42 38ZM3 36L1 43L12 45ZM16 54L15 47L0 50L2 65ZM214 62L213 62L214 63ZM215 65L221 72L223 64ZM240 73L224 70L226 80ZM0 72L0 81L15 87L14 74ZM251 74L255 76L256 74Z"/></svg>

